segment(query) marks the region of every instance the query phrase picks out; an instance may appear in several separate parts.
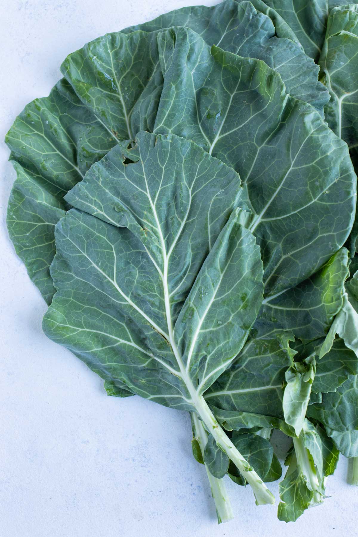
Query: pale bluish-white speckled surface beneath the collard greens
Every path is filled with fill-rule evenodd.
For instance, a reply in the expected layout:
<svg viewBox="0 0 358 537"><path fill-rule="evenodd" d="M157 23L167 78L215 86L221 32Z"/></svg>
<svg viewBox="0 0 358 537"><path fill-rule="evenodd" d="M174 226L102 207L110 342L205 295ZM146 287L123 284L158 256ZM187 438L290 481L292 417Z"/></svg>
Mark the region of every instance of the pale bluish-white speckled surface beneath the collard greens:
<svg viewBox="0 0 358 537"><path fill-rule="evenodd" d="M190 0L12 0L0 6L0 139L26 103L48 95L64 57L98 35ZM195 4L195 2L192 2ZM14 254L5 210L14 180L1 142L0 535L4 537L350 537L358 488L341 458L324 505L295 524L227 481L236 518L217 526L185 413L102 382L41 332L46 306ZM277 454L285 442L275 436ZM278 498L278 484L269 488Z"/></svg>

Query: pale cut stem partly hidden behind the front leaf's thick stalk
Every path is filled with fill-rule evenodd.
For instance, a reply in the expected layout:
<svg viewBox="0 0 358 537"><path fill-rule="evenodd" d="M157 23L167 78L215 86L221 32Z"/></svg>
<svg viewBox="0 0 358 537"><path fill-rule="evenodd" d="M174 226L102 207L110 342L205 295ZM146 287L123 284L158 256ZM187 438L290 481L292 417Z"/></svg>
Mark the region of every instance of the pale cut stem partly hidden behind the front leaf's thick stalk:
<svg viewBox="0 0 358 537"><path fill-rule="evenodd" d="M201 453L204 456L204 448L208 441L208 434L204 429L200 419L198 418L198 416L196 416L195 412L191 412L191 415L194 436L196 440L198 440ZM213 496L215 502L217 523L221 524L222 522L227 522L228 520L231 520L233 518L233 513L224 482L222 479L218 479L217 477L211 475L209 468L205 463L204 466L206 469L206 473L208 474L208 479L211 487L211 496Z"/></svg>

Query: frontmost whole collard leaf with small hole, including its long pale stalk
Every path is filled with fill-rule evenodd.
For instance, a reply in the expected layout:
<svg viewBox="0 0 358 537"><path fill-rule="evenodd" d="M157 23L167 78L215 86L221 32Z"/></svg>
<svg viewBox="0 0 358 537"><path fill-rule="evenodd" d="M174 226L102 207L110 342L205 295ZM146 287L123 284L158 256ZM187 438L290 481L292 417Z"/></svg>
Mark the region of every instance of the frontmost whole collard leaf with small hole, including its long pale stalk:
<svg viewBox="0 0 358 537"><path fill-rule="evenodd" d="M229 217L223 203L229 191L239 199L239 178L177 136L142 132L136 143L140 161L127 164L114 148L85 178L99 203L104 196L101 213L88 197L101 219L71 209L57 224L57 293L43 329L137 395L198 413L257 502L272 503L202 397L242 348L262 301L250 215L236 208Z"/></svg>

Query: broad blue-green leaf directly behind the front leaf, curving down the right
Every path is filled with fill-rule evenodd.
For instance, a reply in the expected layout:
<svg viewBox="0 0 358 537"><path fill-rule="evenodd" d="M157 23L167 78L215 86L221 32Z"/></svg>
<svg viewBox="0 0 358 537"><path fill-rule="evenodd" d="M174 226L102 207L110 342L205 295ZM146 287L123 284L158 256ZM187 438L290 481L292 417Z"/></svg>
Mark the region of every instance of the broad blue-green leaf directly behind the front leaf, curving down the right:
<svg viewBox="0 0 358 537"><path fill-rule="evenodd" d="M311 106L288 97L263 62L217 47L211 54L184 28L158 42L165 74L155 131L188 137L240 173L265 293L296 286L352 227L356 180L344 142Z"/></svg>

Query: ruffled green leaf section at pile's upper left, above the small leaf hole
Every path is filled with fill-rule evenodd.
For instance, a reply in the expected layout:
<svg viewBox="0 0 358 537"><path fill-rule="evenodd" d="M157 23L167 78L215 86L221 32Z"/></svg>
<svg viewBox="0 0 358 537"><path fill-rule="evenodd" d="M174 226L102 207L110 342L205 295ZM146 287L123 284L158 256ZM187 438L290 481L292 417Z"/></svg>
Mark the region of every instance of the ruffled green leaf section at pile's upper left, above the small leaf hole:
<svg viewBox="0 0 358 537"><path fill-rule="evenodd" d="M67 56L61 71L118 140L152 130L162 92L157 33L114 32Z"/></svg>

